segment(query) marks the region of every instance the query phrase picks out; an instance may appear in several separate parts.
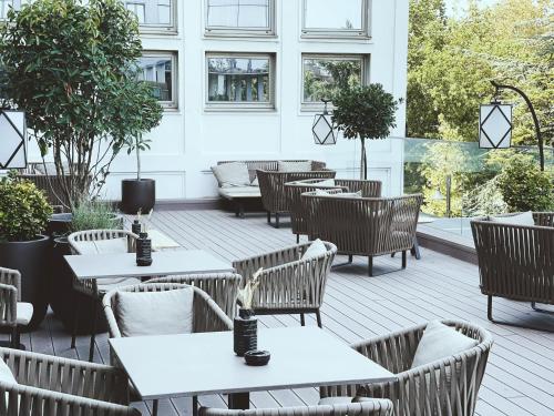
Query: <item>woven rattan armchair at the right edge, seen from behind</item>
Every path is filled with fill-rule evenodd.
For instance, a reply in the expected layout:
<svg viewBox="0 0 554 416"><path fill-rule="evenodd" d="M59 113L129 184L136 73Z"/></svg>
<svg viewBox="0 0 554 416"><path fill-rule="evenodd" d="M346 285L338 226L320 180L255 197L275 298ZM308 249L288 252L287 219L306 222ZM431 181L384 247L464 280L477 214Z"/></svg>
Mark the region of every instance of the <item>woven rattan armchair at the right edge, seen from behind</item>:
<svg viewBox="0 0 554 416"><path fill-rule="evenodd" d="M515 214L512 214L515 215ZM510 215L506 215L510 216ZM535 226L503 224L490 217L471 222L481 293L492 297L554 305L554 213L533 213Z"/></svg>

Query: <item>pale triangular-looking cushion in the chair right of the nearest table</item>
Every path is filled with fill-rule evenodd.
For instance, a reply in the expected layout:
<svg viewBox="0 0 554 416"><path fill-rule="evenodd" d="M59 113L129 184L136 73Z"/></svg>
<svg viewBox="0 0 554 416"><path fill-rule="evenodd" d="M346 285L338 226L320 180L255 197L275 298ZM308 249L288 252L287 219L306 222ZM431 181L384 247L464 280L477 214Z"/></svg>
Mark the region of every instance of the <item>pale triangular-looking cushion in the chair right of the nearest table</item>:
<svg viewBox="0 0 554 416"><path fill-rule="evenodd" d="M412 368L462 353L475 345L478 345L476 339L470 338L439 321L430 322L416 349Z"/></svg>

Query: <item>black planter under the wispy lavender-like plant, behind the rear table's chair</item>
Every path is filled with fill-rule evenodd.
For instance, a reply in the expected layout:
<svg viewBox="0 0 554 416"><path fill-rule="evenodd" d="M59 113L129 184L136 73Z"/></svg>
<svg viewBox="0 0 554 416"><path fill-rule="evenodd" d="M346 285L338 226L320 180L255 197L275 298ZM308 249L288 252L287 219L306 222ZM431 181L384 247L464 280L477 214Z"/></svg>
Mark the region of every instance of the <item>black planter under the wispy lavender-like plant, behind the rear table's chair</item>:
<svg viewBox="0 0 554 416"><path fill-rule="evenodd" d="M73 331L75 325L75 306L79 304L79 321L76 323L78 334L90 334L92 331L94 300L73 291L73 274L63 258L71 254L66 237L53 240L52 256L50 262L50 307L55 317L61 321L68 332ZM107 323L102 308L96 308L96 332L106 332Z"/></svg>

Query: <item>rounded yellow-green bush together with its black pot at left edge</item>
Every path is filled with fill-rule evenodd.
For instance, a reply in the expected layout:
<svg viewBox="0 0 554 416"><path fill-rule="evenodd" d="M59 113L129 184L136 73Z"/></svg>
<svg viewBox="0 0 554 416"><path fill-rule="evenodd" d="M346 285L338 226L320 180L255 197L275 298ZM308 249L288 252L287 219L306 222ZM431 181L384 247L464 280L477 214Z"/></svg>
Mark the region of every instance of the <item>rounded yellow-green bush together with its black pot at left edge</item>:
<svg viewBox="0 0 554 416"><path fill-rule="evenodd" d="M0 266L21 273L21 300L32 303L30 327L47 314L49 237L43 235L52 207L33 183L14 174L0 179Z"/></svg>

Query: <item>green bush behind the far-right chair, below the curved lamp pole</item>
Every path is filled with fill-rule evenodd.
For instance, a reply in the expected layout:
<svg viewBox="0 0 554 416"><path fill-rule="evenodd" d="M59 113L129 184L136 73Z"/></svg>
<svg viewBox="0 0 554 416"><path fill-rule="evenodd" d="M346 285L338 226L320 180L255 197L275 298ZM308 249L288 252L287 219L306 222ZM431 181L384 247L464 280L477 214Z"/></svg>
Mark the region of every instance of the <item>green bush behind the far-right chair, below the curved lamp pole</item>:
<svg viewBox="0 0 554 416"><path fill-rule="evenodd" d="M510 212L554 210L553 172L542 172L532 156L514 154L507 159L497 186Z"/></svg>

